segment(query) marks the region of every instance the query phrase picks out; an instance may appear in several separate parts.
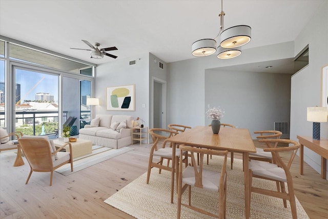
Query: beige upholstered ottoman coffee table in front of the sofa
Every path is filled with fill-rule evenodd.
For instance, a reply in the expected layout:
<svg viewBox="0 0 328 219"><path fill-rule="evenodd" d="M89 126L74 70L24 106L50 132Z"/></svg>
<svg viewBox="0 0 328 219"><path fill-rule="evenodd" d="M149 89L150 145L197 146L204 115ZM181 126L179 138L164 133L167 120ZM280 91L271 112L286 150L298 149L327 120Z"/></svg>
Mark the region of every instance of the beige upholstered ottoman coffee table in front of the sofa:
<svg viewBox="0 0 328 219"><path fill-rule="evenodd" d="M54 140L53 143L55 144L55 147L60 148L61 146L65 145L67 142ZM91 141L77 138L76 142L70 142L70 143L72 145L73 158L90 154L92 152ZM66 151L69 152L70 151L69 145L65 146L64 149L66 149Z"/></svg>

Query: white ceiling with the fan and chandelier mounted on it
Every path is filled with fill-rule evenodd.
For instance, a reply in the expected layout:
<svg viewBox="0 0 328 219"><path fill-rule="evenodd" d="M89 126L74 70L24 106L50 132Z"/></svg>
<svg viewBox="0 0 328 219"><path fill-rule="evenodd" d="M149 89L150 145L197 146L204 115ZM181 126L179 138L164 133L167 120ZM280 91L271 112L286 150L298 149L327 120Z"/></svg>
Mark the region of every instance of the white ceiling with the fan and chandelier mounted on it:
<svg viewBox="0 0 328 219"><path fill-rule="evenodd" d="M294 41L322 1L223 1L224 28L249 25L243 48ZM166 63L190 59L191 45L219 32L221 1L0 1L0 35L101 64L90 52L116 46L117 59L151 52ZM241 54L242 55L242 54ZM253 66L254 67L254 66Z"/></svg>

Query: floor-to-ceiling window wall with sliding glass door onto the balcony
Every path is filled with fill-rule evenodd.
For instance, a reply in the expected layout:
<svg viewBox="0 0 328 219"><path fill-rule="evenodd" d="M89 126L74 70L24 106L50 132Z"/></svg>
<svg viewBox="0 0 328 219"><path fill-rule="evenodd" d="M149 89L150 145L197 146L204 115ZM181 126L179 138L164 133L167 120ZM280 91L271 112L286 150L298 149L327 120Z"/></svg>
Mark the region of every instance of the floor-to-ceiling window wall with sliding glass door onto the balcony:
<svg viewBox="0 0 328 219"><path fill-rule="evenodd" d="M53 135L70 115L77 117L78 128L80 120L90 123L83 98L93 94L96 65L1 35L0 39L0 127ZM82 119L83 112L89 116Z"/></svg>

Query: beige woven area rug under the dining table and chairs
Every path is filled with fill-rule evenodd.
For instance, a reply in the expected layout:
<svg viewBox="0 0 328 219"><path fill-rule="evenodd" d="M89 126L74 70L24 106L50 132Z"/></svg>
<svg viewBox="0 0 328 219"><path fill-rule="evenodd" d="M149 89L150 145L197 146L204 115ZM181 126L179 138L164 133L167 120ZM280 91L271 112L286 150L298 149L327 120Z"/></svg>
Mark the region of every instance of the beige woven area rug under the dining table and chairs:
<svg viewBox="0 0 328 219"><path fill-rule="evenodd" d="M205 160L205 159L204 159ZM213 156L210 165L204 165L208 169L220 168L218 164L221 157ZM228 158L227 164L230 164ZM245 218L244 216L244 184L242 172L242 160L234 159L234 169L230 170L227 165L227 218ZM174 204L171 204L171 172L163 170L158 174L158 169L153 168L150 175L150 182L146 184L147 172L138 177L135 181L122 188L104 202L124 211L138 219L161 219L176 218L177 194L174 192ZM276 190L274 182L253 178L253 185L267 187ZM176 189L176 188L175 188ZM175 190L176 191L176 190ZM192 204L217 214L218 193L210 192L198 188L192 188ZM188 191L182 196L182 202L188 203ZM279 198L252 193L251 218L292 218L289 201L288 208L283 207ZM303 207L296 198L298 218L309 218ZM213 218L200 214L186 207L181 206L181 218Z"/></svg>

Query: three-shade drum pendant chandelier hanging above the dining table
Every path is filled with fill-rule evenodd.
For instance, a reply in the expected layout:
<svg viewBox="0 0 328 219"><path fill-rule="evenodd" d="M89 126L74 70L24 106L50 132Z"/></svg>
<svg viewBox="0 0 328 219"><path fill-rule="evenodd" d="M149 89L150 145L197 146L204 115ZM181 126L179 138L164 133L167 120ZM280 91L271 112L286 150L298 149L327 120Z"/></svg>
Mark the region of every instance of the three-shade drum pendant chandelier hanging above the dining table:
<svg viewBox="0 0 328 219"><path fill-rule="evenodd" d="M220 31L214 39L199 39L192 45L192 54L197 57L208 56L219 52L217 55L220 59L234 58L241 54L240 47L248 44L251 41L251 27L247 25L239 25L223 29L223 16L225 13L222 10L220 17ZM216 39L219 37L220 45L216 47Z"/></svg>

